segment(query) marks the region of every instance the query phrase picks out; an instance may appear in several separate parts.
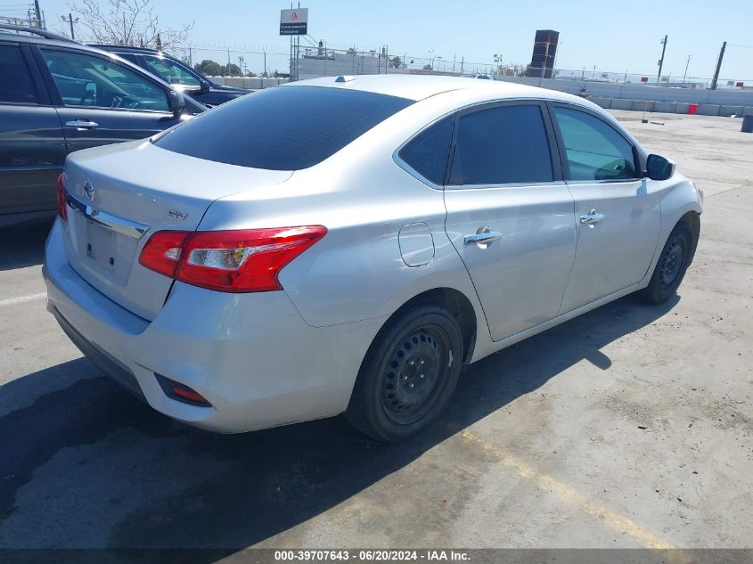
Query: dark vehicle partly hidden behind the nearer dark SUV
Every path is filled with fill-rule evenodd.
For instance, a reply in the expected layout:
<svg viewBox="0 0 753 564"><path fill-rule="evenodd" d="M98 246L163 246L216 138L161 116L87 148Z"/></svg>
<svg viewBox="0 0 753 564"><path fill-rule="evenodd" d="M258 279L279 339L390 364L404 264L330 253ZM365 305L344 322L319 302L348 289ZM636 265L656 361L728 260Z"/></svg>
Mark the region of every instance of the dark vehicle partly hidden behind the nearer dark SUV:
<svg viewBox="0 0 753 564"><path fill-rule="evenodd" d="M143 47L126 47L123 45L94 45L103 51L115 53L126 61L131 61L165 82L183 89L186 94L203 104L217 106L229 102L243 94L249 94L245 88L218 85L196 72L183 61L167 53Z"/></svg>

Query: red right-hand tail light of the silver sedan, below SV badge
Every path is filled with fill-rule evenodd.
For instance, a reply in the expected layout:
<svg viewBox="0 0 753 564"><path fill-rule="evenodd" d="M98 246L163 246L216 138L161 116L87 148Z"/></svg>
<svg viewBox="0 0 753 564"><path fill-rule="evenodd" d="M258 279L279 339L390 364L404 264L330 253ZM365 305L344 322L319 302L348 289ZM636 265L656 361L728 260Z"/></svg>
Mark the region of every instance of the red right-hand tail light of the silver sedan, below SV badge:
<svg viewBox="0 0 753 564"><path fill-rule="evenodd" d="M327 234L323 225L237 231L160 231L146 241L139 262L151 270L209 290L282 290L282 268Z"/></svg>

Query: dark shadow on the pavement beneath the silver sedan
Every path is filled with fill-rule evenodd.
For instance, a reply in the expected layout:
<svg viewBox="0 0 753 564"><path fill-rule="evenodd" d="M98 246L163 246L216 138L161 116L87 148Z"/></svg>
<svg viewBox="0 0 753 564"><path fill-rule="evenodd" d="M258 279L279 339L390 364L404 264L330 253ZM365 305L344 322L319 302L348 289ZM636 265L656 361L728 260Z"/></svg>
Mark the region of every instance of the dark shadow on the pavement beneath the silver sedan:
<svg viewBox="0 0 753 564"><path fill-rule="evenodd" d="M622 298L488 356L463 373L438 423L395 445L341 417L242 435L188 428L95 376L83 358L29 374L0 387L6 402L23 398L0 410L0 547L236 552L348 500L584 359L609 369L603 347L677 300Z"/></svg>

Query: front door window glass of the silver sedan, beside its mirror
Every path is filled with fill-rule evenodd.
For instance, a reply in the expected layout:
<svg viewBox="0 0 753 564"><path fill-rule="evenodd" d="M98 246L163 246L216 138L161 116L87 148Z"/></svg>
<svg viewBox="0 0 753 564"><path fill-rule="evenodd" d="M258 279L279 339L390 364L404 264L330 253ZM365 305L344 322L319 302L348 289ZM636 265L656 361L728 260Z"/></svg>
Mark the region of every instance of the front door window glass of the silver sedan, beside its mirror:
<svg viewBox="0 0 753 564"><path fill-rule="evenodd" d="M609 124L584 111L555 106L572 180L635 178L633 145Z"/></svg>

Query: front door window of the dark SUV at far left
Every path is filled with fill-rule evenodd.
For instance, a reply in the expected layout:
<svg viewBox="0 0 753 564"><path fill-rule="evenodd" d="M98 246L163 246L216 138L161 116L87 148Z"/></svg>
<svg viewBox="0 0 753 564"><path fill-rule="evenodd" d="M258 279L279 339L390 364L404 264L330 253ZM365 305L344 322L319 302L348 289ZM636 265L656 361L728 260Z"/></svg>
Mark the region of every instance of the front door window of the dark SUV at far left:
<svg viewBox="0 0 753 564"><path fill-rule="evenodd" d="M42 53L67 106L169 110L168 94L160 86L118 62L69 51Z"/></svg>

